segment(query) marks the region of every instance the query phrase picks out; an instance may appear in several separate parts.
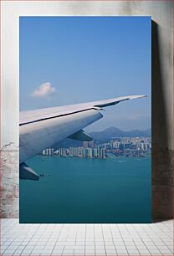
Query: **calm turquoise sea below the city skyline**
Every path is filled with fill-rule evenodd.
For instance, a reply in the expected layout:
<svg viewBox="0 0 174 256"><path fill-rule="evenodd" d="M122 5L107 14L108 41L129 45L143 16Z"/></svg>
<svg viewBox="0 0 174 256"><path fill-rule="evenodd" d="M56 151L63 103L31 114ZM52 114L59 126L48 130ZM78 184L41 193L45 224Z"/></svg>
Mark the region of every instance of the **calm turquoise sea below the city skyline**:
<svg viewBox="0 0 174 256"><path fill-rule="evenodd" d="M35 156L20 180L20 223L151 223L151 157Z"/></svg>

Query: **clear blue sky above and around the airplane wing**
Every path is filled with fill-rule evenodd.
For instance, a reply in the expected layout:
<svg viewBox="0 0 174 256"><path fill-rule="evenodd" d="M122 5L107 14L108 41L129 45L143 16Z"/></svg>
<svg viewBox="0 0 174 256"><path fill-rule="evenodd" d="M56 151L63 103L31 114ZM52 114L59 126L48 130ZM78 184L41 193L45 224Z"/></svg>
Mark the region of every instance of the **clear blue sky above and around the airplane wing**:
<svg viewBox="0 0 174 256"><path fill-rule="evenodd" d="M86 131L151 127L150 17L21 17L20 110L148 95Z"/></svg>

